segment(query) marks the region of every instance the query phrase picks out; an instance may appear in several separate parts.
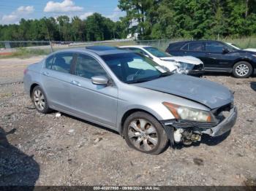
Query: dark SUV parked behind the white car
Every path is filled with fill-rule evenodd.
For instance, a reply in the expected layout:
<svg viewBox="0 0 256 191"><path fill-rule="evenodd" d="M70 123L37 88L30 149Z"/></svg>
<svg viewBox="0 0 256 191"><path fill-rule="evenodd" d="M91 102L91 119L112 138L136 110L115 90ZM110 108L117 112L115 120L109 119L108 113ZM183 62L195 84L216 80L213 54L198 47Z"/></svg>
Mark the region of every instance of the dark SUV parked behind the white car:
<svg viewBox="0 0 256 191"><path fill-rule="evenodd" d="M225 42L199 40L170 43L171 55L192 55L203 61L206 71L233 73L235 77L256 74L256 52L238 50Z"/></svg>

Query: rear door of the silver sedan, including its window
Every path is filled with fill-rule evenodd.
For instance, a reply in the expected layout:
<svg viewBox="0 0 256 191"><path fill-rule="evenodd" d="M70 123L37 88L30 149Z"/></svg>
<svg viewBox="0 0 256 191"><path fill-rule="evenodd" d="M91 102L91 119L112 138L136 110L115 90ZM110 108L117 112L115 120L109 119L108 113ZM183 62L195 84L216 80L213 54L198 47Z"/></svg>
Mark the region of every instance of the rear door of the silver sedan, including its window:
<svg viewBox="0 0 256 191"><path fill-rule="evenodd" d="M59 52L47 58L42 69L42 88L48 103L65 111L71 107L69 77L72 61L72 52Z"/></svg>

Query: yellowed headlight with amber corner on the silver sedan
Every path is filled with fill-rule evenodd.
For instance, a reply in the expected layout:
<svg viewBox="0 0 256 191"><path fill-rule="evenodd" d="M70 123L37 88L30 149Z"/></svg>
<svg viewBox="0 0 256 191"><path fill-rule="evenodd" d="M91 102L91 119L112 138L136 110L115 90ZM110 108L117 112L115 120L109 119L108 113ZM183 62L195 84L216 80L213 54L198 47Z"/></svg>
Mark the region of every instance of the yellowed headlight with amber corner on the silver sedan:
<svg viewBox="0 0 256 191"><path fill-rule="evenodd" d="M170 104L163 102L164 106L170 110L176 120L188 120L195 122L214 122L215 118L211 112L206 112L199 109L193 109L187 106L178 106L176 104Z"/></svg>

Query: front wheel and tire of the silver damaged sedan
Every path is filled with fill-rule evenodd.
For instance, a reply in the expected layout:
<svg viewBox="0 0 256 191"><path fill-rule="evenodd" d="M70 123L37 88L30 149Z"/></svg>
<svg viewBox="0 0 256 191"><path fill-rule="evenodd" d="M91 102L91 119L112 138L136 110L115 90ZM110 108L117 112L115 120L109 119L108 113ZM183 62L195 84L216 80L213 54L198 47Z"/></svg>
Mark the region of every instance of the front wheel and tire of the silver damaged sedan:
<svg viewBox="0 0 256 191"><path fill-rule="evenodd" d="M158 120L146 112L135 112L124 122L124 139L129 147L151 155L158 155L168 139Z"/></svg>

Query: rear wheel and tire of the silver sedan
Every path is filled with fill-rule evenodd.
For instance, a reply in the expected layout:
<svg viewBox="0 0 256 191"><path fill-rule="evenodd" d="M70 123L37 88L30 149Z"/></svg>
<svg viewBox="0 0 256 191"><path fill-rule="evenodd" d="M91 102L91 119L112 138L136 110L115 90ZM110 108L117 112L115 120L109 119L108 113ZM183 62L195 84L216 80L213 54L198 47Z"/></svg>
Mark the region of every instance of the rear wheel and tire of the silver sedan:
<svg viewBox="0 0 256 191"><path fill-rule="evenodd" d="M37 109L37 112L48 114L52 110L48 106L48 101L45 96L44 91L39 85L34 87L31 95L31 100L34 104L34 107Z"/></svg>

